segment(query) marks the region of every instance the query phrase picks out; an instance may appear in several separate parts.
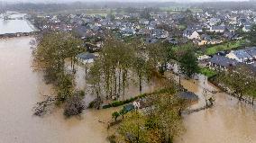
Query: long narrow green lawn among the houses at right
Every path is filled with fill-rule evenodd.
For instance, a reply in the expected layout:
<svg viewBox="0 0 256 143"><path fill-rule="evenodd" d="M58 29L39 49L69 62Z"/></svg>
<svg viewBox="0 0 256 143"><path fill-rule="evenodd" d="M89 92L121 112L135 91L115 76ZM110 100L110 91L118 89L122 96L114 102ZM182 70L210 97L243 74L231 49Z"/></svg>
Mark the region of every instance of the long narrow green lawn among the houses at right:
<svg viewBox="0 0 256 143"><path fill-rule="evenodd" d="M230 50L230 49L236 49L242 46L242 44L245 43L245 40L236 40L236 41L230 41L230 42L225 42L223 44L215 45L210 48L206 48L205 54L206 55L214 55L218 51L223 51L223 50Z"/></svg>

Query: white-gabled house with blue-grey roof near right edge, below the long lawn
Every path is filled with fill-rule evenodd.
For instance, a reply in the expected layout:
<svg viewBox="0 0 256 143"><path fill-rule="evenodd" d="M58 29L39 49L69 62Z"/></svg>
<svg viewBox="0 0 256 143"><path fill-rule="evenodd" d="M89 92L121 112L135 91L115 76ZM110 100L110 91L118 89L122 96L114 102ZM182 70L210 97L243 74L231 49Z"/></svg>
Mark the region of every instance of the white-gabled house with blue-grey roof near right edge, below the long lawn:
<svg viewBox="0 0 256 143"><path fill-rule="evenodd" d="M232 50L226 55L227 58L235 59L241 63L248 63L251 61L252 57L244 49Z"/></svg>

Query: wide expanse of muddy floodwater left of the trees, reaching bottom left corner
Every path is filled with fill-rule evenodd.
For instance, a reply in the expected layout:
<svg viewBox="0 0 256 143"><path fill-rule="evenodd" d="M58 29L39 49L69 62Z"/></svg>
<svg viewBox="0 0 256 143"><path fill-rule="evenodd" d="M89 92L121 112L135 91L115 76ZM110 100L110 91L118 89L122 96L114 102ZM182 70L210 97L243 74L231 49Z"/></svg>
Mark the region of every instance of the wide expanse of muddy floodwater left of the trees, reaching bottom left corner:
<svg viewBox="0 0 256 143"><path fill-rule="evenodd" d="M87 110L65 120L59 109L43 118L32 108L50 94L42 74L33 72L30 37L0 40L0 143L104 143L106 124L118 109Z"/></svg>

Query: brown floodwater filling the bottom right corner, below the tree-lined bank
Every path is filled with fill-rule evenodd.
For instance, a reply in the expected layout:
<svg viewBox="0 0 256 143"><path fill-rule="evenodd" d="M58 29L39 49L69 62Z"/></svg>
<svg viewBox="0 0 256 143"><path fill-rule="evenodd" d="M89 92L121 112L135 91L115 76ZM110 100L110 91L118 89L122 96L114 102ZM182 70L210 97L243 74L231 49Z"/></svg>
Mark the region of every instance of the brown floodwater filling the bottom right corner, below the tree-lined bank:
<svg viewBox="0 0 256 143"><path fill-rule="evenodd" d="M205 84L204 84L205 83ZM217 91L204 76L199 80L181 80L188 91L199 96L199 103L191 108L203 106L204 88ZM210 94L210 93L208 93ZM213 108L194 112L184 117L186 132L176 143L256 143L256 109L239 102L228 94L214 94ZM255 108L255 107L254 107Z"/></svg>

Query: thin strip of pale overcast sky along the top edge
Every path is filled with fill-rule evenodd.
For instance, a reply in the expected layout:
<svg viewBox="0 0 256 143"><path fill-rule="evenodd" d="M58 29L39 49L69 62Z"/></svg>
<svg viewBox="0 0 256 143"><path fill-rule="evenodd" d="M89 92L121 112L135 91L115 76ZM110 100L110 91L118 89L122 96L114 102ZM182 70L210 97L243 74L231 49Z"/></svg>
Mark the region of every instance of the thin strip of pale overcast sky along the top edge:
<svg viewBox="0 0 256 143"><path fill-rule="evenodd" d="M32 3L63 3L63 2L208 2L208 1L248 1L248 0L0 0L5 2L32 2Z"/></svg>

